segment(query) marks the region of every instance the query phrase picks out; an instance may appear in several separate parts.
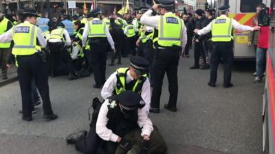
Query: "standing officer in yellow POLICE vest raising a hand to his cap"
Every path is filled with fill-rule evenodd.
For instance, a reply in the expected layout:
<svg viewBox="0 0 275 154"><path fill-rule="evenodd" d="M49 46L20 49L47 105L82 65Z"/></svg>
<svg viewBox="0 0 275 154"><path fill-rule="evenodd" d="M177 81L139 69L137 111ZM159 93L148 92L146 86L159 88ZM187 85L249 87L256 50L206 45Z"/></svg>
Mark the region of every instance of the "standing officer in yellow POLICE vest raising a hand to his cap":
<svg viewBox="0 0 275 154"><path fill-rule="evenodd" d="M164 107L170 111L177 111L177 66L187 41L184 21L173 14L175 1L161 0L153 8L145 12L140 21L144 25L155 27L157 49L153 62L153 92L150 112L159 113L162 80L167 73L170 97ZM153 10L159 9L162 16L151 16ZM157 33L158 31L158 33Z"/></svg>

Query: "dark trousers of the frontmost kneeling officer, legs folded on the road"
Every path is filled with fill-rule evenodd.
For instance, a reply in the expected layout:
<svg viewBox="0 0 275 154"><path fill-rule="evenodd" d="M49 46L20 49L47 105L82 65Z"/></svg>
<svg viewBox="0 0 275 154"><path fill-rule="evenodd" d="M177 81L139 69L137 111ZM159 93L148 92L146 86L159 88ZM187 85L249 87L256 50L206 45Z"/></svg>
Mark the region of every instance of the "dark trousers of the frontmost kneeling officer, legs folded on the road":
<svg viewBox="0 0 275 154"><path fill-rule="evenodd" d="M102 140L96 133L95 127L91 127L88 135L76 142L76 150L85 154L94 154L101 146L104 147L104 153L114 154L118 144L116 142Z"/></svg>

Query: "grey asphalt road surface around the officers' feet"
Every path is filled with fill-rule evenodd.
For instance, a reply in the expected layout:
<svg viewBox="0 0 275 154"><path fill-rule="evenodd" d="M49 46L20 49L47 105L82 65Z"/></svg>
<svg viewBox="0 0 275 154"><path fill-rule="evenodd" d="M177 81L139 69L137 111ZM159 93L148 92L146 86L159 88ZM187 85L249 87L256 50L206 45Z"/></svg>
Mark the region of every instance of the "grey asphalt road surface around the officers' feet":
<svg viewBox="0 0 275 154"><path fill-rule="evenodd" d="M128 66L129 59L122 60ZM217 87L207 85L209 70L189 70L192 57L180 60L178 112L165 110L168 81L162 90L160 114L150 114L159 127L168 154L259 154L262 153L263 84L254 84L253 62L236 62L232 73L233 88L223 88L223 70L219 68ZM107 75L119 66L107 66ZM65 137L88 129L87 110L91 99L100 96L92 88L94 77L68 81L50 78L50 97L57 120L43 120L37 107L34 120L21 120L19 83L0 88L0 154L77 154Z"/></svg>

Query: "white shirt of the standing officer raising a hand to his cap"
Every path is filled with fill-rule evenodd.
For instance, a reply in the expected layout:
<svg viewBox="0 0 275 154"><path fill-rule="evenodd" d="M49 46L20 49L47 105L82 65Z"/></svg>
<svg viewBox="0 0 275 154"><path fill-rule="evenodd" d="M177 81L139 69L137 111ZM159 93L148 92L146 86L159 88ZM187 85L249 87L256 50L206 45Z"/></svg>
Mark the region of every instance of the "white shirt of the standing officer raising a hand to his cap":
<svg viewBox="0 0 275 154"><path fill-rule="evenodd" d="M144 14L142 14L142 17L140 18L140 22L144 25L148 25L150 27L155 27L155 29L158 29L159 27L159 20L160 16L151 16L152 10L146 11ZM166 14L172 14L172 12L167 12ZM181 34L181 49L184 51L186 43L187 43L187 33L186 33L186 27L184 25L184 21L181 19L182 26L184 27L182 34Z"/></svg>

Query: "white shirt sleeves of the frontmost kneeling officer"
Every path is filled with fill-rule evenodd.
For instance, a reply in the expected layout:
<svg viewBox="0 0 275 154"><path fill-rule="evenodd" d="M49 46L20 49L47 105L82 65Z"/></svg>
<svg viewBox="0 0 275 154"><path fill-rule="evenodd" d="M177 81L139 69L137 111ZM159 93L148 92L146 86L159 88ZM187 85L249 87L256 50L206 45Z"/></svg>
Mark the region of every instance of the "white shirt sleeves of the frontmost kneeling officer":
<svg viewBox="0 0 275 154"><path fill-rule="evenodd" d="M118 135L113 133L111 129L108 129L107 123L109 118L107 118L109 99L105 100L102 106L100 107L100 112L98 113L98 120L96 122L96 133L100 138L105 141L116 142L118 140ZM137 125L142 128L141 136L147 135L150 136L153 131L153 124L148 118L147 114L144 114L140 109L137 110ZM122 136L120 136L122 137Z"/></svg>

